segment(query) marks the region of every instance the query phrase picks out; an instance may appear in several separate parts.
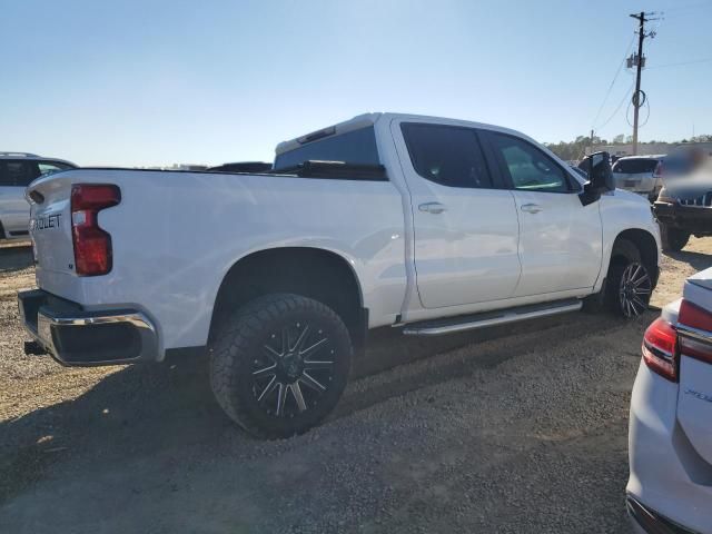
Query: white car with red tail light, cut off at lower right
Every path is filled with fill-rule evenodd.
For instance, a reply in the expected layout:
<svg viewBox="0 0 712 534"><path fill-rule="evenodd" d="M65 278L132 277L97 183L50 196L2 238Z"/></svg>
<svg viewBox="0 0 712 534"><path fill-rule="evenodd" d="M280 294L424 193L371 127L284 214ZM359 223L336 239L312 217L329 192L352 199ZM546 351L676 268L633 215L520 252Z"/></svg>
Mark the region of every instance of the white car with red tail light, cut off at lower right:
<svg viewBox="0 0 712 534"><path fill-rule="evenodd" d="M712 268L643 338L631 399L627 508L639 532L712 533Z"/></svg>

